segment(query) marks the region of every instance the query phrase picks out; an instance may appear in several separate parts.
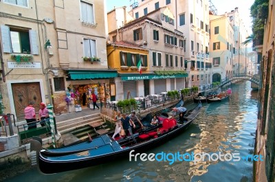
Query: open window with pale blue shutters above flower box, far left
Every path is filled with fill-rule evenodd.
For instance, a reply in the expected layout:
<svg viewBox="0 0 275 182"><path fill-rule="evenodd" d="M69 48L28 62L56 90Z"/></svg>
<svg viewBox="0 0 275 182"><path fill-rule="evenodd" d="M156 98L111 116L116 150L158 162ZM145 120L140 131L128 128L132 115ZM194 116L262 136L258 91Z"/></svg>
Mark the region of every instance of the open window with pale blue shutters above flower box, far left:
<svg viewBox="0 0 275 182"><path fill-rule="evenodd" d="M39 54L35 30L18 30L1 25L1 39L5 53Z"/></svg>

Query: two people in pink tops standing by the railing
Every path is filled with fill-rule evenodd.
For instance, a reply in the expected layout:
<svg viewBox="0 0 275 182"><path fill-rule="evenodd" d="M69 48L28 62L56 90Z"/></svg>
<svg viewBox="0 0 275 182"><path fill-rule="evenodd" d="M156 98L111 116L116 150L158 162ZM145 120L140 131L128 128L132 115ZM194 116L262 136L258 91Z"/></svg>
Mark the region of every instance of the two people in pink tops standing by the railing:
<svg viewBox="0 0 275 182"><path fill-rule="evenodd" d="M37 121L33 101L30 101L28 106L25 107L24 113L25 113L25 120L27 121L27 124L28 124L28 129L36 128L36 124L32 123ZM48 117L49 117L49 111L47 110L46 105L43 102L41 102L40 109L39 109L39 121L41 121L40 122L41 126L45 126L45 121L43 120L47 119Z"/></svg>

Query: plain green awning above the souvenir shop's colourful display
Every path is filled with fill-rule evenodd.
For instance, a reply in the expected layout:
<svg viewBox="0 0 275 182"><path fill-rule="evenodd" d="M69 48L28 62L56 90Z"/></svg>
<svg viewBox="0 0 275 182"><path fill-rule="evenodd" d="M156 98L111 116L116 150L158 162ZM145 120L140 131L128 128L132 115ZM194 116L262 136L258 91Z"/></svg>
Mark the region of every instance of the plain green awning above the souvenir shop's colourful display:
<svg viewBox="0 0 275 182"><path fill-rule="evenodd" d="M72 80L87 80L98 78L115 78L118 76L117 71L92 71L92 70L68 70Z"/></svg>

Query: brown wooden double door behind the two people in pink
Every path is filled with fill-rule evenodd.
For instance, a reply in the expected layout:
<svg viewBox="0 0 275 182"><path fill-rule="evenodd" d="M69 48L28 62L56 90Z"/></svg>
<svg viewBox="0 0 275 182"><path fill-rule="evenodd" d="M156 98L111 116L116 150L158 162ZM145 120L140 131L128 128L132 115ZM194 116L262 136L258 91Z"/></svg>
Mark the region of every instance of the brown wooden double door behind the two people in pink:
<svg viewBox="0 0 275 182"><path fill-rule="evenodd" d="M14 83L12 95L18 121L25 120L24 109L30 101L34 101L35 111L39 113L39 104L42 102L39 82Z"/></svg>

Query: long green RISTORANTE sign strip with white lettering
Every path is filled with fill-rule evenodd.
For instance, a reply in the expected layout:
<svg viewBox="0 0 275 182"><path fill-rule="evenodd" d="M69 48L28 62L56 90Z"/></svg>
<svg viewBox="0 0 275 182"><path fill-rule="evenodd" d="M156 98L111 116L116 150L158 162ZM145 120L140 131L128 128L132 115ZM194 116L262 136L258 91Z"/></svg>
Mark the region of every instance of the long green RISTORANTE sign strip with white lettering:
<svg viewBox="0 0 275 182"><path fill-rule="evenodd" d="M166 78L184 78L188 75L178 74L178 75L144 75L144 76L121 76L121 80L151 80L151 79L166 79Z"/></svg>

